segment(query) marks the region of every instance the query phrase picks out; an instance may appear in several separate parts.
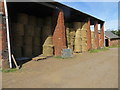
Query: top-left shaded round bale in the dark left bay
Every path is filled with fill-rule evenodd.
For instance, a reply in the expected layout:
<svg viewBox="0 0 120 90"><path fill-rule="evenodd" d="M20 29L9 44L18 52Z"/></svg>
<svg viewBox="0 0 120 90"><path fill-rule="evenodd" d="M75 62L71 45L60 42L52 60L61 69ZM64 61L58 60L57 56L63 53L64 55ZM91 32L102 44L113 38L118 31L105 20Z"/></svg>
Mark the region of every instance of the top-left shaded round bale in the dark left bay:
<svg viewBox="0 0 120 90"><path fill-rule="evenodd" d="M19 13L17 15L17 22L22 24L28 24L28 15L24 13Z"/></svg>

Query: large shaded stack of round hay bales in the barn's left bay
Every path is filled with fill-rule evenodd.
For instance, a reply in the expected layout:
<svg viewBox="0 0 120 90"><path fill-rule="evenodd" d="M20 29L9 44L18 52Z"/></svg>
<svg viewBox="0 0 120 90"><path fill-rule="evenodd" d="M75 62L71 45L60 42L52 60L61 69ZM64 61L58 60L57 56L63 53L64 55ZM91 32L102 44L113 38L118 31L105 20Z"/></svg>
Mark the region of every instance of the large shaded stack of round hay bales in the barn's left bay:
<svg viewBox="0 0 120 90"><path fill-rule="evenodd" d="M42 19L20 13L12 23L13 54L18 57L33 57L41 54Z"/></svg>

